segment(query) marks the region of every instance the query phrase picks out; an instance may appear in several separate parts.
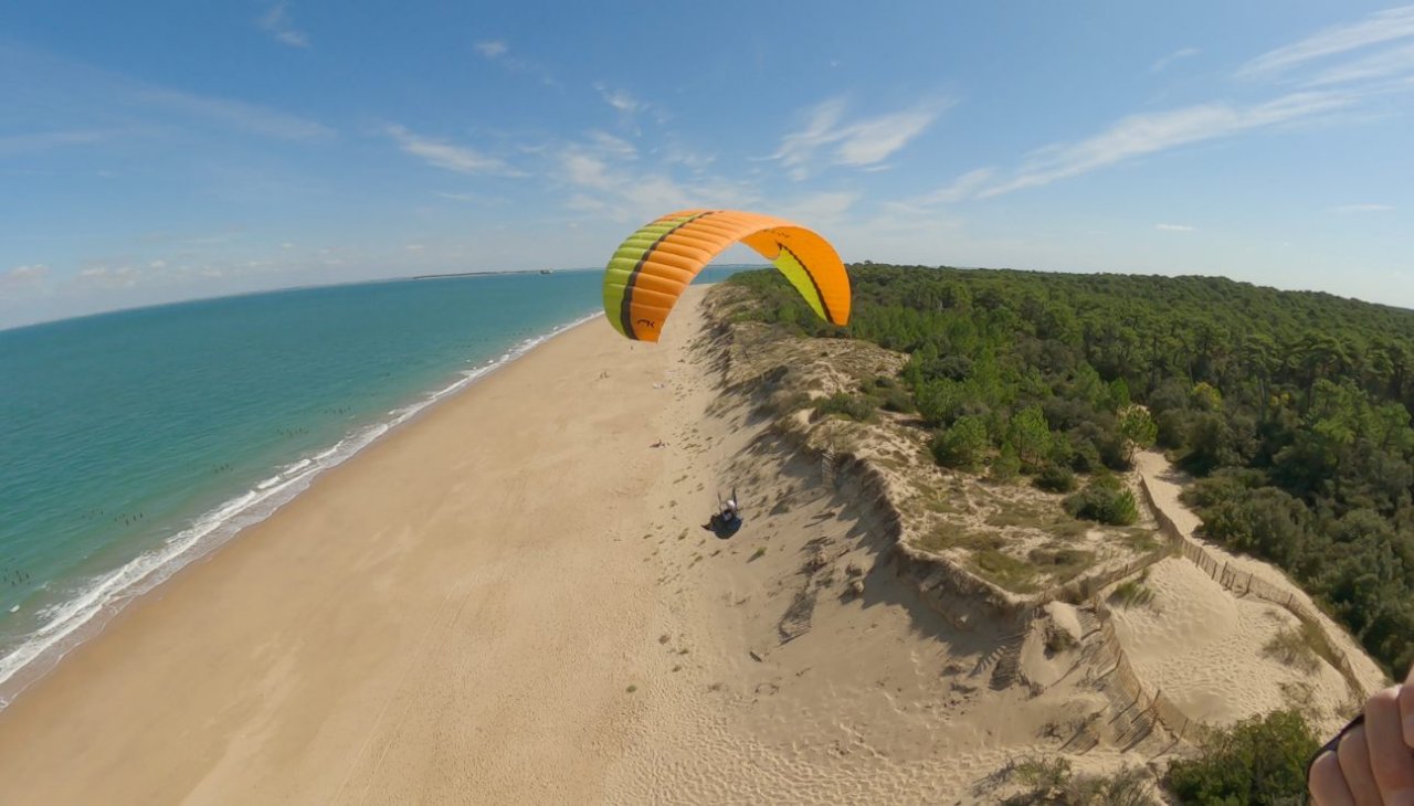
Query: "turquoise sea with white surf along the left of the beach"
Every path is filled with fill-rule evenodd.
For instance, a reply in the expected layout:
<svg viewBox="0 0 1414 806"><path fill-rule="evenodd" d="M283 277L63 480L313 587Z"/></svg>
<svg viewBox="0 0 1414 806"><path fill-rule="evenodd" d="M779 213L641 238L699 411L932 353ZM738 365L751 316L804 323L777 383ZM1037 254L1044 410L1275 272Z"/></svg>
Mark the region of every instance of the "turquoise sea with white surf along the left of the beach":
<svg viewBox="0 0 1414 806"><path fill-rule="evenodd" d="M601 281L400 280L0 331L0 707L321 471L598 315Z"/></svg>

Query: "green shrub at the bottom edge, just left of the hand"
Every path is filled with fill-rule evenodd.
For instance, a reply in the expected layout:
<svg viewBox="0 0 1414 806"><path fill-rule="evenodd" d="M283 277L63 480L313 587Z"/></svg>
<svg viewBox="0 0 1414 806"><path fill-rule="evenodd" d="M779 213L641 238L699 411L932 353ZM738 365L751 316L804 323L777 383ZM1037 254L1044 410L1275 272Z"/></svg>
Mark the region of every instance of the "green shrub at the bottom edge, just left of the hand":
<svg viewBox="0 0 1414 806"><path fill-rule="evenodd" d="M1198 758L1169 765L1164 785L1181 803L1299 803L1319 747L1299 711L1273 711L1209 735Z"/></svg>

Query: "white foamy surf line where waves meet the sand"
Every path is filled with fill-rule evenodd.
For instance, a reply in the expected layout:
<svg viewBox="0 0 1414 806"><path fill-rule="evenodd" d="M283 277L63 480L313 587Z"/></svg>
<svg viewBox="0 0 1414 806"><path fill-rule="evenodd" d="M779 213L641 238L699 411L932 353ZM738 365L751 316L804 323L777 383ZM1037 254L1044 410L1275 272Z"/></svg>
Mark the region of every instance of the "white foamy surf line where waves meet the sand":
<svg viewBox="0 0 1414 806"><path fill-rule="evenodd" d="M88 578L75 597L47 608L55 611L52 618L0 656L0 714L58 667L65 656L100 635L129 605L156 594L184 568L208 559L240 533L293 503L325 472L417 421L438 403L457 397L479 380L525 358L537 346L602 315L595 311L557 324L543 334L516 342L499 358L475 369L457 370L455 380L419 393L413 402L387 411L385 419L345 433L337 443L312 455L271 468L273 475L269 478L226 498L174 532L164 540L160 551L143 551L116 568Z"/></svg>

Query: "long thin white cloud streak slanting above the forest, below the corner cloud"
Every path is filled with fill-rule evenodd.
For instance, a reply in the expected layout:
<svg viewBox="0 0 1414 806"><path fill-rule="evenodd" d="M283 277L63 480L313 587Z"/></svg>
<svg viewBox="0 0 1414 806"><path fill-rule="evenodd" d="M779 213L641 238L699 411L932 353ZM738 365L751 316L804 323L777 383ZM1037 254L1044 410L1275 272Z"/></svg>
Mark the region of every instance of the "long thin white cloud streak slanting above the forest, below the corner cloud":
<svg viewBox="0 0 1414 806"><path fill-rule="evenodd" d="M1179 146L1316 119L1346 109L1356 100L1359 95L1355 93L1294 92L1253 106L1200 103L1169 112L1133 115L1087 140L1035 151L1011 180L981 191L978 197L998 197L1021 188L1048 185Z"/></svg>

